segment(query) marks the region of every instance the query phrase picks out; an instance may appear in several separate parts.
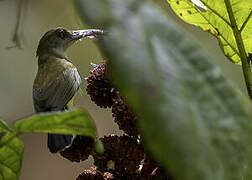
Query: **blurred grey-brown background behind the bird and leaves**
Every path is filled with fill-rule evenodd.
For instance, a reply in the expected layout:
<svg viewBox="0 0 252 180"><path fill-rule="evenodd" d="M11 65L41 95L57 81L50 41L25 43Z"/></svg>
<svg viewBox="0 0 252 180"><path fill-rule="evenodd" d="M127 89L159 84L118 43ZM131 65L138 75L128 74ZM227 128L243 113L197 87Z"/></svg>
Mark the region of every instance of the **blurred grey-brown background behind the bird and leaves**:
<svg viewBox="0 0 252 180"><path fill-rule="evenodd" d="M85 29L69 0L28 0L21 18L20 37L23 49L8 48L12 41L18 17L19 0L0 1L0 117L9 124L34 114L32 105L32 84L37 71L35 57L39 39L50 28ZM210 56L213 63L246 94L241 67L229 62L223 56L218 41L200 28L184 23L170 10L165 0L155 3L175 23L179 24ZM88 6L88 4L87 4ZM97 9L99 13L99 9ZM99 27L92 27L99 28ZM85 39L68 50L68 56L79 69L82 77L83 93L79 93L75 105L89 111L97 124L99 136L121 133L113 123L110 109L100 109L90 101L85 92L84 77L91 69L90 62L99 63L104 58L95 46L95 40ZM199 90L200 91L200 90ZM21 180L75 179L90 163L72 163L59 155L52 155L47 149L46 134L25 134L21 136L25 144ZM92 159L90 158L92 162Z"/></svg>

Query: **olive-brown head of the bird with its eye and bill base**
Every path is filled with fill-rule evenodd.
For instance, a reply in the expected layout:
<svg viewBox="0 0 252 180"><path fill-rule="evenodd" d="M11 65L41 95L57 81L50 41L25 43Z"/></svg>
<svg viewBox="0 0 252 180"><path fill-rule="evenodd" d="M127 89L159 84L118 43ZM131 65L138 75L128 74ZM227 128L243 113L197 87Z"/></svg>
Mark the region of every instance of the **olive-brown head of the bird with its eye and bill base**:
<svg viewBox="0 0 252 180"><path fill-rule="evenodd" d="M40 39L37 56L66 58L65 51L67 48L82 37L81 31L69 31L64 28L51 29Z"/></svg>

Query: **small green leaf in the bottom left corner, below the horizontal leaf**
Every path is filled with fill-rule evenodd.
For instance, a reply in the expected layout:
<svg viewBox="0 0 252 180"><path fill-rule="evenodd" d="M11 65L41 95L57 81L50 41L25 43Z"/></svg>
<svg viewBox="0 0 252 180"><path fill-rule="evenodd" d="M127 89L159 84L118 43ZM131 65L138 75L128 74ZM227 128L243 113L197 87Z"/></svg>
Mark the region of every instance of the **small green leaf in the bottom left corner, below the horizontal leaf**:
<svg viewBox="0 0 252 180"><path fill-rule="evenodd" d="M13 133L0 139L0 180L18 180L24 151L23 143Z"/></svg>

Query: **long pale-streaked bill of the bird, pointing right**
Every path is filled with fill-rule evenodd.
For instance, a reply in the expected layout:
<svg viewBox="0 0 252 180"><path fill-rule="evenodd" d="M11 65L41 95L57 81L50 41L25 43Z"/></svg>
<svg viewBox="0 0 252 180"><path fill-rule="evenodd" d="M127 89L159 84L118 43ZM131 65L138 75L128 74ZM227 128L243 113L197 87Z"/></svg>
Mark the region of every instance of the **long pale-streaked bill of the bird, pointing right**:
<svg viewBox="0 0 252 180"><path fill-rule="evenodd" d="M71 32L73 39L81 39L83 37L87 38L96 38L97 36L104 35L105 32L101 29L84 29L84 30L75 30Z"/></svg>

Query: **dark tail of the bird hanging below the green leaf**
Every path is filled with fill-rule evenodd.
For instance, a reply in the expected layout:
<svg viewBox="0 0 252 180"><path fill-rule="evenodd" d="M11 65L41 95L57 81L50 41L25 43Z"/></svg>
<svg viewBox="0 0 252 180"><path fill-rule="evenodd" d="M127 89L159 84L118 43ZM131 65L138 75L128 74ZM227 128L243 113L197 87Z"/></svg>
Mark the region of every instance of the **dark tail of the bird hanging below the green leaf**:
<svg viewBox="0 0 252 180"><path fill-rule="evenodd" d="M66 134L48 134L47 145L51 153L57 153L72 143L73 136Z"/></svg>

